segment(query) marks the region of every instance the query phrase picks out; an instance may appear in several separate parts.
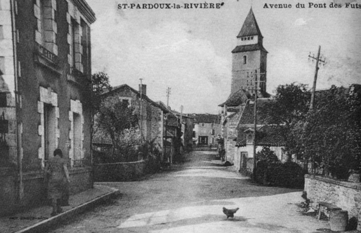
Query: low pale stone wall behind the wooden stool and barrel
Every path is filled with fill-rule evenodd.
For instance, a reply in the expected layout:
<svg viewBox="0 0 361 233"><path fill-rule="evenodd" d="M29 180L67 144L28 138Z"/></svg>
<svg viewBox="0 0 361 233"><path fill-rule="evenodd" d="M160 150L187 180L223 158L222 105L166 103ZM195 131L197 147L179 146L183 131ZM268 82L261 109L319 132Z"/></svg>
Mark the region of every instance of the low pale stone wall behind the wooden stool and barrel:
<svg viewBox="0 0 361 233"><path fill-rule="evenodd" d="M305 191L314 208L319 201L326 201L347 210L349 218L361 214L361 183L305 175Z"/></svg>

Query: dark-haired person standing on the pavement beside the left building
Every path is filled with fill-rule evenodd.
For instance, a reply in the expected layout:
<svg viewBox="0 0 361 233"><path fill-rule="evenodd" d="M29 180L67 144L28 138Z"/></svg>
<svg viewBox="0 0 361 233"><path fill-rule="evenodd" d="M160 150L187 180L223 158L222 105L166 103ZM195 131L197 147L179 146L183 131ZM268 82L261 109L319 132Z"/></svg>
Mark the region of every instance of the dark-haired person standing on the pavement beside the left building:
<svg viewBox="0 0 361 233"><path fill-rule="evenodd" d="M63 159L63 153L60 149L54 151L54 157L50 157L47 166L49 173L48 197L51 199L51 216L61 213L60 200L69 190L69 172L66 161Z"/></svg>

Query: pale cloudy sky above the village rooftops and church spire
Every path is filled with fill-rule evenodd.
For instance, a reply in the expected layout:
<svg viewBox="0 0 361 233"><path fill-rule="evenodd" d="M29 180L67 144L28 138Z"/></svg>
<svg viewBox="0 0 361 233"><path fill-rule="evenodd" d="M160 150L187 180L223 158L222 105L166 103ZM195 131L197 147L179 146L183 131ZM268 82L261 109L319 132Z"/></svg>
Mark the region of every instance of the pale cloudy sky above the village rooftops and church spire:
<svg viewBox="0 0 361 233"><path fill-rule="evenodd" d="M232 49L252 6L268 53L267 91L280 84L312 87L321 46L325 66L317 89L361 83L361 0L346 7L312 0L326 8L296 8L291 0L87 0L97 20L91 25L92 73L109 75L113 86L147 85L147 96L183 113L219 112L230 93ZM118 9L123 3L221 3L219 9ZM269 8L265 8L265 4ZM287 3L291 8L271 8ZM355 5L356 4L356 5ZM358 8L356 8L358 7Z"/></svg>

